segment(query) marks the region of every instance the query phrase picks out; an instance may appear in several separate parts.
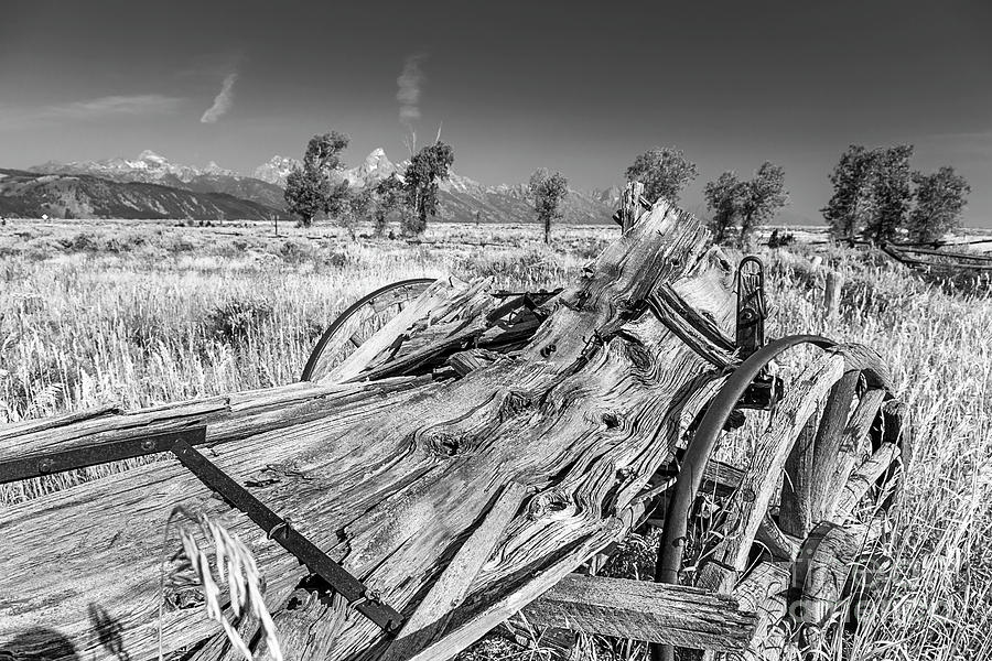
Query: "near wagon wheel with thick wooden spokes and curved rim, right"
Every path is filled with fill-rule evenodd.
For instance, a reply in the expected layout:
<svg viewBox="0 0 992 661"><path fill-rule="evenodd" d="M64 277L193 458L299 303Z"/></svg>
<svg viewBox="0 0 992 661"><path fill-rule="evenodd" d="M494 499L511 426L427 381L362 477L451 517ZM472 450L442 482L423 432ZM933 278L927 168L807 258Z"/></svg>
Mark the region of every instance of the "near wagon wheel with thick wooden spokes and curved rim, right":
<svg viewBox="0 0 992 661"><path fill-rule="evenodd" d="M731 412L763 366L806 343L824 351L785 389L710 519L709 534L687 537L707 462ZM872 350L818 336L770 343L727 379L687 447L657 578L734 594L758 613L745 658L778 659L786 648L815 654L831 627L856 617L852 606L884 571L882 544L908 453L906 427L887 369ZM687 539L693 539L696 561L680 575ZM656 646L651 655L672 659L673 650Z"/></svg>

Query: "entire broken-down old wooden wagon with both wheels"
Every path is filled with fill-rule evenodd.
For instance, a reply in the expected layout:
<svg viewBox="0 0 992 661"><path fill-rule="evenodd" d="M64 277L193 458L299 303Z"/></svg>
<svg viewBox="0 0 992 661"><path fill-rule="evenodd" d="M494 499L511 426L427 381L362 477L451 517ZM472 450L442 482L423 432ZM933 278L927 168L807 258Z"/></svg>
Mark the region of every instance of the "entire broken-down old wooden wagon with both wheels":
<svg viewBox="0 0 992 661"><path fill-rule="evenodd" d="M766 343L761 262L665 202L619 219L562 291L374 292L300 383L0 427L4 481L171 453L0 510L0 657L138 661L160 631L171 658L234 654L162 594L176 506L251 548L291 659L444 660L509 619L777 658L850 621L907 444L885 365ZM775 373L798 346L808 365ZM596 575L645 527L655 581Z"/></svg>

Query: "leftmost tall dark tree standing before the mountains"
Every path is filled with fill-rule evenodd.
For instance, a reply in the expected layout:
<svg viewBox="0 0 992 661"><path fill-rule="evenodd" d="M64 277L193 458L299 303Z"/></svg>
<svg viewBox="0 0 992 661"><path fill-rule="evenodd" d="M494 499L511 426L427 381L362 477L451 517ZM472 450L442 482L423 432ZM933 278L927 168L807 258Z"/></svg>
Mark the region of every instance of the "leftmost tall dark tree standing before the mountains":
<svg viewBox="0 0 992 661"><path fill-rule="evenodd" d="M337 131L314 136L306 144L302 166L294 166L287 177L287 210L299 216L304 227L310 227L321 212L332 216L344 212L348 183L332 181L332 175L342 169L341 153L347 145L348 137Z"/></svg>

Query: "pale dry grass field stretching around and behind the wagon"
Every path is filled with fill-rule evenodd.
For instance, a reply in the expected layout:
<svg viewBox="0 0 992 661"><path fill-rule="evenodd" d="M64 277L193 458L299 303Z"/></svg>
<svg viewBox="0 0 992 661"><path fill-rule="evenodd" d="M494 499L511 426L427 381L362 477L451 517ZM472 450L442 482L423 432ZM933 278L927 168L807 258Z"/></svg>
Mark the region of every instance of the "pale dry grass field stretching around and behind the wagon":
<svg viewBox="0 0 992 661"><path fill-rule="evenodd" d="M380 284L451 272L552 288L618 229L562 228L550 248L537 225L439 225L417 243L353 241L326 227L280 234L260 224L8 221L0 227L0 423L287 383L323 327ZM807 234L801 240L817 239ZM840 658L841 647L861 660L992 654L988 289L948 290L884 257L826 245L761 253L769 268L769 337L822 333L876 348L913 413L895 570L859 631L828 658ZM829 323L813 254L847 277L841 315ZM8 488L0 503L33 495ZM608 646L589 649L589 659L611 658ZM638 646L612 651L644 653Z"/></svg>

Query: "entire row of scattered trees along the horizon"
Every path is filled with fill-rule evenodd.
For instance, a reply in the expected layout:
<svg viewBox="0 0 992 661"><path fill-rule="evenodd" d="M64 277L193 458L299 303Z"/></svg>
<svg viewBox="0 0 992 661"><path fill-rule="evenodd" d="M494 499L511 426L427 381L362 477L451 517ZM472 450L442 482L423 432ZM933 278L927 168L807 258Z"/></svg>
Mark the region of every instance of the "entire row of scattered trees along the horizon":
<svg viewBox="0 0 992 661"><path fill-rule="evenodd" d="M342 153L347 145L348 137L337 131L310 140L301 164L287 178L287 209L303 226L326 214L353 235L364 218L371 218L376 234L382 234L390 214L397 213L405 235L422 234L428 218L438 213L439 182L449 177L454 163L452 147L439 136L412 155L402 176L353 188L343 176ZM971 191L964 177L950 166L929 174L914 171L912 155L907 144L848 148L829 175L833 194L821 209L834 238L931 242L960 226ZM624 172L627 182L644 184L644 196L651 204L662 197L677 204L698 175L696 164L675 147L650 149ZM550 242L552 224L564 215L568 180L561 172L540 167L531 174L527 191L544 241ZM744 248L757 228L788 204L785 170L765 161L750 178L723 172L704 185L703 197L713 240Z"/></svg>

